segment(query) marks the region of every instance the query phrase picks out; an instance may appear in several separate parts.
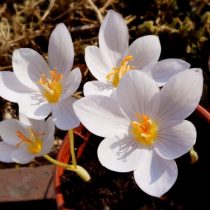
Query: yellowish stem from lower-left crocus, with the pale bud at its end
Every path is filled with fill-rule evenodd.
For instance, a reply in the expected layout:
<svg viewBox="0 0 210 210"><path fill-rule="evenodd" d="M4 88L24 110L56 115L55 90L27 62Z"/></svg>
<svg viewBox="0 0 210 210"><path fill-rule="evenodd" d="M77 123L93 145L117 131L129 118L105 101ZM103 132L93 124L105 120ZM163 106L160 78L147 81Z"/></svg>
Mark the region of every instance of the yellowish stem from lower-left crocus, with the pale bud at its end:
<svg viewBox="0 0 210 210"><path fill-rule="evenodd" d="M85 182L88 182L90 180L89 173L82 166L77 165L77 167L75 168L74 165L59 162L59 161L53 159L52 157L50 157L49 155L44 155L43 157L45 159L47 159L49 162L53 163L54 165L64 167L70 171L74 171Z"/></svg>

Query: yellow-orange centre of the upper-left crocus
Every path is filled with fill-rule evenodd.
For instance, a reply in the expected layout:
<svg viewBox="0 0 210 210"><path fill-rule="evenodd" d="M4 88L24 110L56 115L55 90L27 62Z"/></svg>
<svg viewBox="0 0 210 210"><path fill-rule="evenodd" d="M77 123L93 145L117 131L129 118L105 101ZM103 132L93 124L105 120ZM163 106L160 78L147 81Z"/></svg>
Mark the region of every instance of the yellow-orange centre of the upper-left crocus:
<svg viewBox="0 0 210 210"><path fill-rule="evenodd" d="M47 78L45 74L42 74L38 83L41 85L43 96L49 103L56 103L62 93L61 79L63 75L57 72L57 69L49 71L50 78Z"/></svg>

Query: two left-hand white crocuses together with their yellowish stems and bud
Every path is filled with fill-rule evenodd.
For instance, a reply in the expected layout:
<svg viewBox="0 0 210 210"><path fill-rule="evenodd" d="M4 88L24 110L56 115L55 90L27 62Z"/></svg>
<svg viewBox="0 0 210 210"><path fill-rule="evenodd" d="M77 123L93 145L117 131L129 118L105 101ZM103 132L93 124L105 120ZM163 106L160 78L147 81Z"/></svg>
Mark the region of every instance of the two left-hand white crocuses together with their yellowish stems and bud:
<svg viewBox="0 0 210 210"><path fill-rule="evenodd" d="M48 46L48 63L42 56L29 48L14 51L12 66L14 72L0 72L0 96L16 102L19 112L34 120L36 128L25 128L23 122L6 120L0 125L0 161L28 163L34 157L44 156L51 163L76 172L84 181L89 181L88 172L77 165L74 152L73 128L80 123L74 113L73 94L81 82L79 68L72 71L74 49L71 35L64 24L58 24L52 32ZM46 130L52 122L62 130L69 130L72 164L59 162L47 153L54 138L51 130ZM26 117L25 117L26 119ZM36 122L36 120L39 120ZM53 126L53 125L52 125ZM45 131L46 130L46 131ZM11 137L11 138L10 138ZM46 140L47 139L47 140ZM46 143L47 142L47 143Z"/></svg>

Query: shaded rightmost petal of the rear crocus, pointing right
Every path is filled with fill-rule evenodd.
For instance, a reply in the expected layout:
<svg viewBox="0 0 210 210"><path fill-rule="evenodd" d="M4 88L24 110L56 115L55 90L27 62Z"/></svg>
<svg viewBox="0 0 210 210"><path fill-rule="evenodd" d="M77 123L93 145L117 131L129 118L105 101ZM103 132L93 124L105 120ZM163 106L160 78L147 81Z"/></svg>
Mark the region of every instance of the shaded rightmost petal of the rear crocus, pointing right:
<svg viewBox="0 0 210 210"><path fill-rule="evenodd" d="M159 61L151 69L151 73L153 79L158 82L158 85L163 86L172 76L189 68L189 63L180 59L169 58Z"/></svg>

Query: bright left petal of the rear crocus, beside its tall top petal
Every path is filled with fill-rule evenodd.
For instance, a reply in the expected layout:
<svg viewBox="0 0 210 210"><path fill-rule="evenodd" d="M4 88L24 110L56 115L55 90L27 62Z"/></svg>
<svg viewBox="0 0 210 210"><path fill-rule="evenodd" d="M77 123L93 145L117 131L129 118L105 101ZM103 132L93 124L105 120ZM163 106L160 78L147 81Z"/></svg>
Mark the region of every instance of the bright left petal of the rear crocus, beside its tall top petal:
<svg viewBox="0 0 210 210"><path fill-rule="evenodd" d="M85 62L92 75L99 81L106 82L106 75L114 67L100 48L89 46L85 49Z"/></svg>

